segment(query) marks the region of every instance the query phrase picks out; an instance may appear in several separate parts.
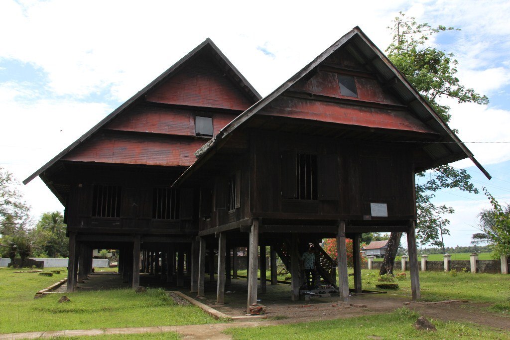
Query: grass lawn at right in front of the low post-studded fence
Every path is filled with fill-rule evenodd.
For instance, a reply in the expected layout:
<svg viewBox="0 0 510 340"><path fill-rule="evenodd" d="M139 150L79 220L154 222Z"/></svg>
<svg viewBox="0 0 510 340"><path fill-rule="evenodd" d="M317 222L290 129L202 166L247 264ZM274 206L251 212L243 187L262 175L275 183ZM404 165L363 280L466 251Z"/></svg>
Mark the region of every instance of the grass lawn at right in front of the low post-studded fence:
<svg viewBox="0 0 510 340"><path fill-rule="evenodd" d="M349 270L351 272L352 270ZM375 285L378 270L362 270L363 289L377 291ZM392 294L411 296L409 271L403 280L395 279L399 289ZM353 287L353 277L349 276L349 286ZM510 309L510 275L471 274L464 272L420 272L421 296L424 301L449 299L469 300L470 302L489 302L506 305Z"/></svg>

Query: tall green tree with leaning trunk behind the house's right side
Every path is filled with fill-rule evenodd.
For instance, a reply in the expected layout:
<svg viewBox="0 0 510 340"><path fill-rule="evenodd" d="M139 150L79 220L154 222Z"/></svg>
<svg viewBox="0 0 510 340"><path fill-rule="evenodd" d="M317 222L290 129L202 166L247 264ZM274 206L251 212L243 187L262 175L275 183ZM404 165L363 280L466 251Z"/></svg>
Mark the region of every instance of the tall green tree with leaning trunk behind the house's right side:
<svg viewBox="0 0 510 340"><path fill-rule="evenodd" d="M446 54L426 45L431 36L445 31L455 30L453 27L439 25L431 27L428 23L418 23L415 18L406 17L400 12L388 27L393 35L393 42L386 49L388 58L406 76L439 116L448 123L450 108L440 104L440 98L452 98L458 103L473 102L487 104L487 96L476 93L460 84L455 76L457 60L453 54ZM455 131L455 130L454 130ZM457 188L462 191L478 193L471 184L471 176L466 170L455 169L449 165L439 166L429 173L419 173L416 184L417 231L420 244L432 244L443 247L442 234L449 234L447 226L450 221L445 215L454 212L452 207L436 205L432 202L435 193L445 188ZM428 180L421 182L425 178ZM400 232L392 232L390 245L380 274L392 273L397 248L400 244Z"/></svg>

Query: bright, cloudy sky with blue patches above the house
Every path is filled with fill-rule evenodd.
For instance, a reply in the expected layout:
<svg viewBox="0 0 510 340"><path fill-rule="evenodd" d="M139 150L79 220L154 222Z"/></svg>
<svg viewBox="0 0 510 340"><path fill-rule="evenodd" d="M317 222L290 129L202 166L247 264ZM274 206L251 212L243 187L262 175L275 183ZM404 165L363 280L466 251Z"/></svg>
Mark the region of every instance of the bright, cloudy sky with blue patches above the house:
<svg viewBox="0 0 510 340"><path fill-rule="evenodd" d="M469 161L474 184L510 203L510 2L506 1L129 1L0 2L0 167L22 181L93 125L211 38L262 96L359 26L381 49L402 11L462 29L428 44L453 53L461 84L486 94L478 106L445 100L450 126L493 176ZM421 179L424 180L424 179ZM35 218L63 206L36 178L18 187ZM483 194L439 193L455 209L446 246L466 246Z"/></svg>

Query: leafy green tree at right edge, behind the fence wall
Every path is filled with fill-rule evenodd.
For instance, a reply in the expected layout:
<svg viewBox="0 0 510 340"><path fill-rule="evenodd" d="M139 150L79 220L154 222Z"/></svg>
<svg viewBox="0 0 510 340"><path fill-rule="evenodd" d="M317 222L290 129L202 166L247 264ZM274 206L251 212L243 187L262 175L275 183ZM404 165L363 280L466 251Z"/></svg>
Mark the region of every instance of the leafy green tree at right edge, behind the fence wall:
<svg viewBox="0 0 510 340"><path fill-rule="evenodd" d="M487 189L483 188L491 201L492 209L484 209L478 214L480 232L473 234L473 245L490 244L494 256L510 256L510 204L501 206Z"/></svg>

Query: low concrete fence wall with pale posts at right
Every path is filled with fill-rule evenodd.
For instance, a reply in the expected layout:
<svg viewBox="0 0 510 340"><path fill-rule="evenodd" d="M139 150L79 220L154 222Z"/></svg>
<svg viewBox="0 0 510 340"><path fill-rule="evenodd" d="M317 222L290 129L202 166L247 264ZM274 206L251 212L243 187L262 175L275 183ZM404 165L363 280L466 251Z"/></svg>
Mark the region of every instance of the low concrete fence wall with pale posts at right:
<svg viewBox="0 0 510 340"><path fill-rule="evenodd" d="M449 258L448 255L445 256L443 261L428 261L426 257L423 256L422 259L418 261L418 270L438 272L456 270L470 271L471 273L508 274L508 269L510 267L508 257L506 256L501 256L499 260L479 260L477 255L471 255L470 260L452 261ZM371 262L370 265L369 262ZM371 269L379 270L381 265L382 261L374 261L369 258L367 262L362 264L362 268L367 269L371 267ZM445 266L447 267L445 268ZM402 261L395 261L393 269L394 271L401 271ZM405 261L405 269L409 270L409 261Z"/></svg>

